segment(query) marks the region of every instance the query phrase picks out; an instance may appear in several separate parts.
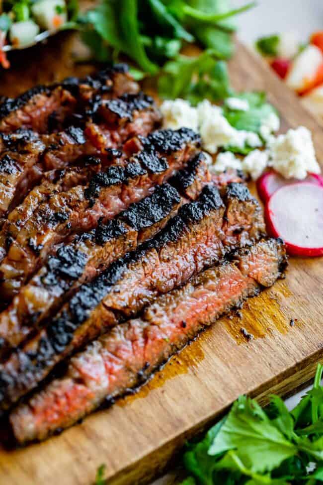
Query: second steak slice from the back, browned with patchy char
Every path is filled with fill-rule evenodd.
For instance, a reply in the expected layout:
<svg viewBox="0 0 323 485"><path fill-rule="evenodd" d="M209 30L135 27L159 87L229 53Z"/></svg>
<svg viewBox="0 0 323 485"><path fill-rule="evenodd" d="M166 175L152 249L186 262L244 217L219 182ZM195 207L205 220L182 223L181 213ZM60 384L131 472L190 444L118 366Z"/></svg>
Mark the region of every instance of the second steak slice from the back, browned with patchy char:
<svg viewBox="0 0 323 485"><path fill-rule="evenodd" d="M65 168L86 156L99 156L107 163L111 149L121 148L134 135L147 135L161 120L154 100L143 93L104 103L105 119L110 120L104 124L87 121L84 127L71 125L65 131L40 137L20 131L18 142L17 136L2 137L11 151L4 151L0 158L0 217L39 183L44 172ZM115 105L120 103L123 108L116 113Z"/></svg>

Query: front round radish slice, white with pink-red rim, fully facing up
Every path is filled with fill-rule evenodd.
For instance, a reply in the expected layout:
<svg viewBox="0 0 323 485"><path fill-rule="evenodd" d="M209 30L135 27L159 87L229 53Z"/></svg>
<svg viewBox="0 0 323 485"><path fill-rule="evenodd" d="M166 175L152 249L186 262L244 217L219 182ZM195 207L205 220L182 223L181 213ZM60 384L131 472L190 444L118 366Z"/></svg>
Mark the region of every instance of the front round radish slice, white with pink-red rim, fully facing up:
<svg viewBox="0 0 323 485"><path fill-rule="evenodd" d="M268 232L281 237L289 254L323 255L323 187L308 182L278 189L265 208Z"/></svg>

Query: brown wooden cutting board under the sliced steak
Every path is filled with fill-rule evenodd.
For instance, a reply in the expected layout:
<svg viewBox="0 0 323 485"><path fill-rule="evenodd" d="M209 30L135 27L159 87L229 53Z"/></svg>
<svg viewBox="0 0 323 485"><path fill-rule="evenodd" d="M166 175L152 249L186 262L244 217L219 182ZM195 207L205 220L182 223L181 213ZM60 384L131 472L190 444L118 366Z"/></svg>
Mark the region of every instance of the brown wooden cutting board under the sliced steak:
<svg viewBox="0 0 323 485"><path fill-rule="evenodd" d="M73 66L69 42L63 36L58 46L51 41L15 56L12 71L1 74L0 94L88 72L90 66ZM322 129L262 61L238 45L230 71L237 89L268 93L282 131L298 125L312 130L322 163ZM249 300L242 317L218 320L136 395L44 443L0 450L0 483L89 485L101 464L109 484L146 483L239 394L265 402L269 393L286 394L313 377L323 359L322 296L323 258L291 259L285 280ZM252 341L242 336L242 327L254 335Z"/></svg>

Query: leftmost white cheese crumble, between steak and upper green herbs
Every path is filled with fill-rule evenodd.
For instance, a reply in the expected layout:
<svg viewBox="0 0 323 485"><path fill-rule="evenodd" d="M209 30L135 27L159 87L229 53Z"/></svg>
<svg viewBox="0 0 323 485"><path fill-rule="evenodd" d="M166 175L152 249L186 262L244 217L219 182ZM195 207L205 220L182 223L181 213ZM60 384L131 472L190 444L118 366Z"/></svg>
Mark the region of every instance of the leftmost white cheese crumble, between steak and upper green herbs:
<svg viewBox="0 0 323 485"><path fill-rule="evenodd" d="M191 128L198 130L198 115L196 108L193 108L184 99L167 99L161 104L164 128L177 130L179 128Z"/></svg>

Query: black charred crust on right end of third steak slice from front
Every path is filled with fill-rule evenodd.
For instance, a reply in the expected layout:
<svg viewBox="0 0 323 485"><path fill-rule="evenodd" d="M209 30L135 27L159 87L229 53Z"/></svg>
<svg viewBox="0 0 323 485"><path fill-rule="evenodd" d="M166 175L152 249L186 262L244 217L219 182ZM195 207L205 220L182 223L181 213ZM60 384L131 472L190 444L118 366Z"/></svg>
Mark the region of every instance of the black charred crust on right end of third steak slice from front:
<svg viewBox="0 0 323 485"><path fill-rule="evenodd" d="M168 184L163 184L157 187L152 195L131 204L120 216L136 231L139 231L161 221L179 202L180 196L176 189Z"/></svg>

